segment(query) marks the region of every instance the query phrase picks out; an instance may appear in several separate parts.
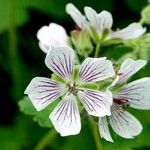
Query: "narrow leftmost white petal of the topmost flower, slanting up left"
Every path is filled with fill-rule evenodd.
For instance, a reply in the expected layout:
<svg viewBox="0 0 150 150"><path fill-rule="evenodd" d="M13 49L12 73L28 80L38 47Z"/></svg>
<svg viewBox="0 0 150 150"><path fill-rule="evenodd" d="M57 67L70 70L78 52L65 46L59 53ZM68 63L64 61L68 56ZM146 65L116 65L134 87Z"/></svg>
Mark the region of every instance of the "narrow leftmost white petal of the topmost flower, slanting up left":
<svg viewBox="0 0 150 150"><path fill-rule="evenodd" d="M72 17L72 19L81 29L87 26L88 21L86 20L85 16L83 16L72 3L68 3L66 5L66 12Z"/></svg>

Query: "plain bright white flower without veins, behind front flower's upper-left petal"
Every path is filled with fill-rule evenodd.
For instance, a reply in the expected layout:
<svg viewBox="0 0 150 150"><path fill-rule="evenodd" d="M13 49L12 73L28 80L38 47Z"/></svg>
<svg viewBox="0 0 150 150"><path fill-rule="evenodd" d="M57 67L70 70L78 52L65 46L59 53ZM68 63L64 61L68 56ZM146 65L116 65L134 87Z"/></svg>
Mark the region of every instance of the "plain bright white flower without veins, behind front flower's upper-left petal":
<svg viewBox="0 0 150 150"><path fill-rule="evenodd" d="M37 32L37 38L39 47L45 53L48 52L51 46L68 45L68 36L65 29L56 23L41 27Z"/></svg>

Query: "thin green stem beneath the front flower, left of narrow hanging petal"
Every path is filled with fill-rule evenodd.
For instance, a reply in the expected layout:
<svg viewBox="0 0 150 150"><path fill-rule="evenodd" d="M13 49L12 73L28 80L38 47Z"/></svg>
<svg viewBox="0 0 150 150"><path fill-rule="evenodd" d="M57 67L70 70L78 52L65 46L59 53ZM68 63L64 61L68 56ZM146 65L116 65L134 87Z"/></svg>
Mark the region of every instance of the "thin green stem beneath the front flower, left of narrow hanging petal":
<svg viewBox="0 0 150 150"><path fill-rule="evenodd" d="M102 144L100 142L100 136L99 136L97 123L92 118L90 118L90 123L91 123L90 124L91 130L92 130L95 145L96 145L96 150L103 150Z"/></svg>

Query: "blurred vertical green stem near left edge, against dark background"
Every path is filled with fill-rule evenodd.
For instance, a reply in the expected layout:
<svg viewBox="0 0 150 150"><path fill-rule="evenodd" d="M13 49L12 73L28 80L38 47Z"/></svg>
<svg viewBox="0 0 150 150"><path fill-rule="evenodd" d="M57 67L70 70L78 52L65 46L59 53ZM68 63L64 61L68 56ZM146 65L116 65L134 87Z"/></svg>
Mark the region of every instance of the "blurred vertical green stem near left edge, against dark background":
<svg viewBox="0 0 150 150"><path fill-rule="evenodd" d="M8 28L8 38L9 38L9 66L10 72L13 80L13 86L15 88L15 95L17 99L22 95L21 80L20 80L20 66L19 57L17 51L17 30L16 30L16 0L9 0L9 28Z"/></svg>

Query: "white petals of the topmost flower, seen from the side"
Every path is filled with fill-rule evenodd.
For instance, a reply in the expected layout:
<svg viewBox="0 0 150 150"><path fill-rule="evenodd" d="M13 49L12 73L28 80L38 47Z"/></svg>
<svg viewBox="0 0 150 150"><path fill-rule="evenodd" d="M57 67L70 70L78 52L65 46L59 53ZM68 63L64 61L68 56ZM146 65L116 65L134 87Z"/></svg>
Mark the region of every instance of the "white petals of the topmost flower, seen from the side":
<svg viewBox="0 0 150 150"><path fill-rule="evenodd" d="M112 31L112 15L105 10L97 13L91 7L85 7L85 17L72 3L69 3L66 6L66 12L81 29L93 26L100 33L102 33L104 29L109 29L109 38L134 39L141 36L146 31L146 28L143 28L139 23L132 23L122 30Z"/></svg>

